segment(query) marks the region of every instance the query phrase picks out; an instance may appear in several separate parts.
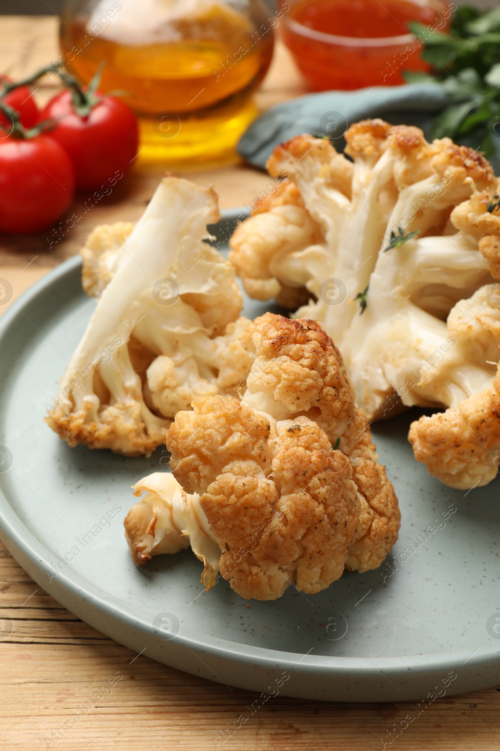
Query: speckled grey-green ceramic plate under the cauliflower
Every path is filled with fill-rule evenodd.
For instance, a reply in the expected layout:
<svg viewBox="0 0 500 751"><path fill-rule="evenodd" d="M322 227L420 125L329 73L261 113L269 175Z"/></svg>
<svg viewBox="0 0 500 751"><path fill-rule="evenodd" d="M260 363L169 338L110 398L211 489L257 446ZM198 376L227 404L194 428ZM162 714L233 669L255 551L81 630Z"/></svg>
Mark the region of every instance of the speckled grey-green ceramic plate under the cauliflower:
<svg viewBox="0 0 500 751"><path fill-rule="evenodd" d="M225 213L222 239L237 215ZM378 571L346 572L318 595L290 587L277 602L245 602L222 579L204 593L188 550L137 569L122 527L130 485L168 471L166 450L127 459L68 448L43 422L94 305L72 258L0 320L0 536L40 587L137 653L229 686L402 701L500 682L499 481L466 493L431 478L406 440L415 413L373 430L403 519ZM250 317L264 309L246 300ZM0 623L0 638L15 632Z"/></svg>

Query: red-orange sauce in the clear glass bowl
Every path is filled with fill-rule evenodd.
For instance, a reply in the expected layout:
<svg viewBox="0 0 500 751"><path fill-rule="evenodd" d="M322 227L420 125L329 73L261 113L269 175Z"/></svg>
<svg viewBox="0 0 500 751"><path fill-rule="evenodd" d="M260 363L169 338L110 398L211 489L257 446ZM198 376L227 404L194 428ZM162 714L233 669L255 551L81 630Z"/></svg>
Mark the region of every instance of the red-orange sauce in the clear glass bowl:
<svg viewBox="0 0 500 751"><path fill-rule="evenodd" d="M396 86L405 83L403 70L427 71L421 42L409 37L408 22L447 31L451 15L439 0L298 0L288 5L283 41L316 91Z"/></svg>

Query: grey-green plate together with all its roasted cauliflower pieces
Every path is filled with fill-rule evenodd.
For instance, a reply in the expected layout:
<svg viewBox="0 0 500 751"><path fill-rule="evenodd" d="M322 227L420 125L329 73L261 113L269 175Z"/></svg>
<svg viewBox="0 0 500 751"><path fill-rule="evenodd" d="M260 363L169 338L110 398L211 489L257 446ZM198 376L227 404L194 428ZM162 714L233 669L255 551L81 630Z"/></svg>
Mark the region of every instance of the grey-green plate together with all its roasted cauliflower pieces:
<svg viewBox="0 0 500 751"><path fill-rule="evenodd" d="M227 685L491 686L498 179L418 128L345 137L278 146L247 219L165 176L3 316L1 536L95 628Z"/></svg>

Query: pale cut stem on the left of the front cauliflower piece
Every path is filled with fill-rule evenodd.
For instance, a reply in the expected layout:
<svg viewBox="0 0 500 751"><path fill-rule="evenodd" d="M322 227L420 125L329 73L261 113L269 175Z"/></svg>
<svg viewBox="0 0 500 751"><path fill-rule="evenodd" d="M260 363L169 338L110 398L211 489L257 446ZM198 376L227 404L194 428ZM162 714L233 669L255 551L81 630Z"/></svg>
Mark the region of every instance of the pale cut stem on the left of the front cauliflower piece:
<svg viewBox="0 0 500 751"><path fill-rule="evenodd" d="M191 547L203 562L202 584L214 586L220 548L199 505L199 495L187 495L169 472L154 472L133 485L134 496L145 497L124 519L125 538L136 566L152 556L178 553Z"/></svg>

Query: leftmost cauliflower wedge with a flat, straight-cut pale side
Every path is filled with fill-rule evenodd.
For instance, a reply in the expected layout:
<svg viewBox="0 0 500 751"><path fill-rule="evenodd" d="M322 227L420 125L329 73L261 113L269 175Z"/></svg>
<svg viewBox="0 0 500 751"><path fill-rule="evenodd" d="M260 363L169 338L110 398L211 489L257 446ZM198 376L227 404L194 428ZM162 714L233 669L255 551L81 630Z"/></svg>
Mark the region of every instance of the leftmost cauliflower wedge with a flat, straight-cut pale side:
<svg viewBox="0 0 500 751"><path fill-rule="evenodd" d="M83 277L100 298L46 418L69 445L149 454L178 409L226 393L250 369L235 342L250 321L235 321L234 270L203 242L219 216L211 189L166 176L130 234L114 225L91 235ZM172 304L155 294L163 282L178 288Z"/></svg>

